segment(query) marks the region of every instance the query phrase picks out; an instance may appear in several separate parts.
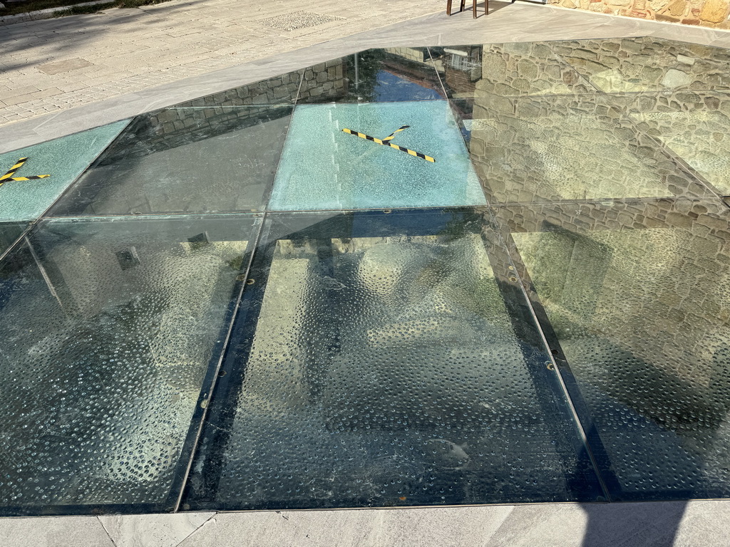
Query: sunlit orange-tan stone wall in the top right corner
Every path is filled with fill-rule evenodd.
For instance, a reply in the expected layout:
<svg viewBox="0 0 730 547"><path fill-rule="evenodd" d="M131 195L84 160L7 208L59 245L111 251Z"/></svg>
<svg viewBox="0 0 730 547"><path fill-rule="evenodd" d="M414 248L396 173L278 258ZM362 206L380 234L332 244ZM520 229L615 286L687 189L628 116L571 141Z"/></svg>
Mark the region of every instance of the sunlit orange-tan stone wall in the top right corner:
<svg viewBox="0 0 730 547"><path fill-rule="evenodd" d="M730 28L729 0L548 0L548 4L669 23Z"/></svg>

